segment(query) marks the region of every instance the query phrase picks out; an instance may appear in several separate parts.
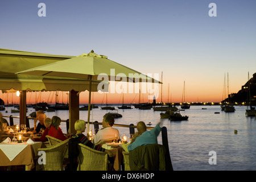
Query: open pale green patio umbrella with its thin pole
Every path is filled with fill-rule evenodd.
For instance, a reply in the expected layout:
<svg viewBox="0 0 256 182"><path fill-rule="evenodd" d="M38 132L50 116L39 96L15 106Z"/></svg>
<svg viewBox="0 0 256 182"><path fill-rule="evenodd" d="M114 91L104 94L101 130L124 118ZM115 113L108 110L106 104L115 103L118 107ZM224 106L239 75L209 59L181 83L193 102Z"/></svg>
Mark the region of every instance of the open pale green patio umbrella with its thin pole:
<svg viewBox="0 0 256 182"><path fill-rule="evenodd" d="M72 57L71 59L27 69L16 74L82 78L90 80L90 83L92 80L98 81L98 76L105 75L108 76L110 81L152 82L162 84L162 82L159 82L154 78L109 60L107 56L97 55L93 51L90 53L83 53L82 55ZM89 88L87 133L89 133L90 98L91 89Z"/></svg>

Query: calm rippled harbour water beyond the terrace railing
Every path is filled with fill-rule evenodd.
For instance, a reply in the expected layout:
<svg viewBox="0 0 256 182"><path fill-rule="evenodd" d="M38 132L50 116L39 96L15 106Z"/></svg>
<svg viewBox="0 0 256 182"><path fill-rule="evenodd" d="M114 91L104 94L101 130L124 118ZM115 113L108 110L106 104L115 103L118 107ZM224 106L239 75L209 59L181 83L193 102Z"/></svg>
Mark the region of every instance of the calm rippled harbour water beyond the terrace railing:
<svg viewBox="0 0 256 182"><path fill-rule="evenodd" d="M19 113L11 113L10 107L6 109L9 113L4 115L19 116ZM189 116L188 121L171 122L162 119L163 126L167 127L174 170L256 170L256 120L255 117L245 117L245 109L246 106L236 106L234 113L225 113L220 106L191 106L190 109L180 111L182 115ZM34 109L28 108L28 114L32 111ZM90 118L102 122L103 115L108 112L109 110L94 109ZM80 119L86 121L87 113L88 111L80 111ZM160 121L161 111L118 109L118 113L123 117L115 119L115 123L136 125L138 121L144 121L146 124L151 122L154 127ZM68 119L67 110L46 114L47 117L57 115L61 119ZM18 122L18 119L14 119L14 124ZM33 126L33 121L30 122L30 126ZM60 127L63 133L67 132L65 123ZM129 134L129 128L116 128L120 134ZM234 134L234 130L238 133ZM161 135L158 142L162 143ZM216 152L217 164L209 164L210 151Z"/></svg>

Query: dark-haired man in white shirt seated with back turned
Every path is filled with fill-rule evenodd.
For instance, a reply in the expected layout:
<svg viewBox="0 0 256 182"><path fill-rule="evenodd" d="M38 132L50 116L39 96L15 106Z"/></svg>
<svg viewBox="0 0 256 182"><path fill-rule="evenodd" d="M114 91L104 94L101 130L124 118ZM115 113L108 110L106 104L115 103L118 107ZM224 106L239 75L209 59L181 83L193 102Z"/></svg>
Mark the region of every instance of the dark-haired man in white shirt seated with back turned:
<svg viewBox="0 0 256 182"><path fill-rule="evenodd" d="M112 127L114 122L114 117L111 114L105 114L102 121L103 128L95 135L92 143L98 143L101 140L115 138L115 134L118 134L119 136L119 131L117 129L113 129Z"/></svg>

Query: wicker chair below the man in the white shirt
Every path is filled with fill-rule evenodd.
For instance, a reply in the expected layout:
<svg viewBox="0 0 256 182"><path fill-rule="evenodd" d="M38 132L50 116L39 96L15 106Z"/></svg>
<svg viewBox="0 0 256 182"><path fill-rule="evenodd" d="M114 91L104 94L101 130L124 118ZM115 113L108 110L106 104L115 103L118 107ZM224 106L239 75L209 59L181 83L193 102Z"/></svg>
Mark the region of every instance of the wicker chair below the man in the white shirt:
<svg viewBox="0 0 256 182"><path fill-rule="evenodd" d="M108 153L94 150L79 143L77 171L108 171Z"/></svg>

